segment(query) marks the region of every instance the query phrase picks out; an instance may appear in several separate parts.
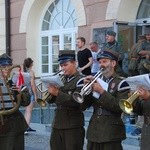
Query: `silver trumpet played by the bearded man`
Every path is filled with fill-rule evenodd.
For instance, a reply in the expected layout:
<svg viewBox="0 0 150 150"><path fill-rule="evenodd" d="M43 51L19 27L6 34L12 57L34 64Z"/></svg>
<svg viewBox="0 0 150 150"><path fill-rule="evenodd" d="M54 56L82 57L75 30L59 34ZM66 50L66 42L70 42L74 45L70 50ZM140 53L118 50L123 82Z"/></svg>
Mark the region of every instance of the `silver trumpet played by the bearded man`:
<svg viewBox="0 0 150 150"><path fill-rule="evenodd" d="M76 102L78 103L83 103L84 101L84 95L88 95L91 92L91 86L92 84L102 75L102 70L100 69L94 76L93 80L83 86L81 89L80 93L79 92L74 92L73 93L73 98Z"/></svg>

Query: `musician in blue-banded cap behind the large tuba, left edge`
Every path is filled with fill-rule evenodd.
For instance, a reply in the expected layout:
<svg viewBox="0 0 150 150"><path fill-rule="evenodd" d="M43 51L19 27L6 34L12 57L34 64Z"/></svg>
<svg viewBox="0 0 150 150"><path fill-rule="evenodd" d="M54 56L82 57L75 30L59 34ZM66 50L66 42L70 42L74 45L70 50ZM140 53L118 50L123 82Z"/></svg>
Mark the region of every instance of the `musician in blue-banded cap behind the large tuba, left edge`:
<svg viewBox="0 0 150 150"><path fill-rule="evenodd" d="M12 59L6 55L3 54L0 56L0 67L6 68L10 67L12 65ZM2 69L3 71L3 69ZM8 107L8 99L3 99L3 92L2 88L4 77L7 75L7 72L2 75L1 72L1 83L0 83L0 90L1 90L1 96L0 96L0 114L4 111L11 111L12 108ZM7 83L6 83L7 84ZM5 93L6 94L6 93ZM9 95L9 91L8 91ZM7 102L6 102L7 101ZM11 103L11 100L10 100ZM5 107L2 107L5 106ZM0 149L1 150L24 150L24 131L27 129L28 125L24 119L24 116L22 113L16 109L16 111L12 111L12 113L8 113L3 116L3 121L0 119Z"/></svg>

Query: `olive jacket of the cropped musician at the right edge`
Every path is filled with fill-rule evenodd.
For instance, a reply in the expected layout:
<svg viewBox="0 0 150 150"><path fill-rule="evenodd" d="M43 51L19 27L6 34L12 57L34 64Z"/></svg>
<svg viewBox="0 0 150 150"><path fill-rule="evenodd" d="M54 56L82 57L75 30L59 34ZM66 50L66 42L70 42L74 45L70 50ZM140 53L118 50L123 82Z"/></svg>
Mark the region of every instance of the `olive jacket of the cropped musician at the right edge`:
<svg viewBox="0 0 150 150"><path fill-rule="evenodd" d="M141 134L141 150L150 148L150 98L148 100L137 100L133 104L134 112L144 115L144 124Z"/></svg>

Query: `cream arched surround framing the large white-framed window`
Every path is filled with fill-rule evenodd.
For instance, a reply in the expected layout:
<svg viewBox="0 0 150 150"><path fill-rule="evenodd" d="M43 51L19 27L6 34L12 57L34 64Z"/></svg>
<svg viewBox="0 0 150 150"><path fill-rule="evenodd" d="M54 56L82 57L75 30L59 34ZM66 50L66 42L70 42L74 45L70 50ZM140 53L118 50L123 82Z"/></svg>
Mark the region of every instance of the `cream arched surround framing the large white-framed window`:
<svg viewBox="0 0 150 150"><path fill-rule="evenodd" d="M53 0L26 0L21 14L20 33L26 33L26 55L34 60L36 75L40 75L40 31L45 11ZM72 0L78 14L78 24L86 25L84 7L80 0ZM82 6L82 7L81 7ZM82 15L81 15L82 14Z"/></svg>

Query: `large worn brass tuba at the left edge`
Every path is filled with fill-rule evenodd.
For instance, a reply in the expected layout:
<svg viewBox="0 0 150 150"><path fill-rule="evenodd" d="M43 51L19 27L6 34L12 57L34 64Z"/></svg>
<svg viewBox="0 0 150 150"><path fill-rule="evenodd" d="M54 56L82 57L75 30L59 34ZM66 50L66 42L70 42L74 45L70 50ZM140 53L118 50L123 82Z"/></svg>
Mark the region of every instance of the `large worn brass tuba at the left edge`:
<svg viewBox="0 0 150 150"><path fill-rule="evenodd" d="M1 119L2 124L4 124L3 116L13 114L15 111L19 109L19 106L21 104L21 97L20 97L21 95L20 94L17 95L17 102L16 102L14 99L13 90L11 90L11 87L8 84L11 71L14 68L21 69L21 66L16 65L10 68L0 68L0 73L1 73L0 80L2 81L0 83L0 103L1 103L0 119ZM7 75L5 75L4 71L7 71ZM12 103L12 106L10 109L7 109L7 107L5 107L5 105L7 104L5 103L5 101L8 101L8 100L11 101Z"/></svg>

